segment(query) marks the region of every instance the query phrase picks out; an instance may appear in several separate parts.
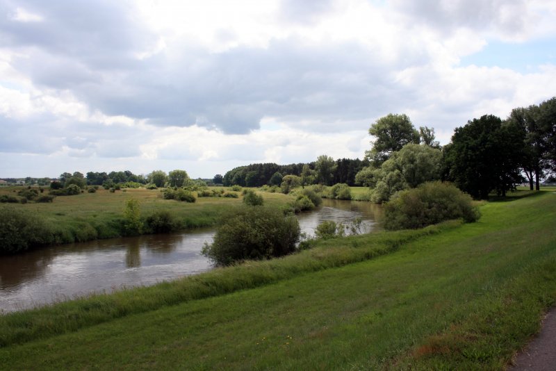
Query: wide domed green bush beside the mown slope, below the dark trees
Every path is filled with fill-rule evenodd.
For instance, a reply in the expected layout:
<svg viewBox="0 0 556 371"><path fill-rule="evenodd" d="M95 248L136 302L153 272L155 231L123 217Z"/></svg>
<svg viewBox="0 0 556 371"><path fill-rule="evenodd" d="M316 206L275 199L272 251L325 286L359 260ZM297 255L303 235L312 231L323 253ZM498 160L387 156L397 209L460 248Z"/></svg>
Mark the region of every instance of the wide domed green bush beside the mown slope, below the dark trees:
<svg viewBox="0 0 556 371"><path fill-rule="evenodd" d="M444 220L475 222L480 212L471 196L449 183L423 183L418 188L395 193L384 206L384 228L417 229Z"/></svg>

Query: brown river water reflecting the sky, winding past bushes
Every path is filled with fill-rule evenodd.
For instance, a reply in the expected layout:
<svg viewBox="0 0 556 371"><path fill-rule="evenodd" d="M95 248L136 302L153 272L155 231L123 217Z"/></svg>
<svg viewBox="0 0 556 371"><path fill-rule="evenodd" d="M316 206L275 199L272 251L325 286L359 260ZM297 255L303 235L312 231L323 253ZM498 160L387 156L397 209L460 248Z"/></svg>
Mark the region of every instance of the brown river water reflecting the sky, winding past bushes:
<svg viewBox="0 0 556 371"><path fill-rule="evenodd" d="M362 232L378 228L379 206L370 202L324 199L316 211L297 215L311 236L325 220L361 218ZM73 299L91 292L152 285L211 270L200 254L213 229L185 233L95 240L0 257L0 313Z"/></svg>

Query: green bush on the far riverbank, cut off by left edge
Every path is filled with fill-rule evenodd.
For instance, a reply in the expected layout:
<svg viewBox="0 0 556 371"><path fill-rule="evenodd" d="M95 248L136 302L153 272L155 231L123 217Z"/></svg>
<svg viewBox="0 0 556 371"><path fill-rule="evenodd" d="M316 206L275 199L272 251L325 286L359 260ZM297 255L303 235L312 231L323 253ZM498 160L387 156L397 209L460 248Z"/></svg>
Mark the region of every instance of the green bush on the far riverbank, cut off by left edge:
<svg viewBox="0 0 556 371"><path fill-rule="evenodd" d="M0 208L0 254L21 252L52 242L51 229L37 215L9 206Z"/></svg>

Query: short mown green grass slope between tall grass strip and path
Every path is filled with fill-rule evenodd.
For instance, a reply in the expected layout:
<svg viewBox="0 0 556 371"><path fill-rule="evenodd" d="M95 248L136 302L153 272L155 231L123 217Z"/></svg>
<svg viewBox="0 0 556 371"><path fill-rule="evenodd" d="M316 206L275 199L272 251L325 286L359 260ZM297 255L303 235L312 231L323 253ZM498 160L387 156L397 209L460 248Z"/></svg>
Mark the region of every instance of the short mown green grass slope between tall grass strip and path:
<svg viewBox="0 0 556 371"><path fill-rule="evenodd" d="M0 368L502 368L556 297L556 194L482 212L373 260L10 345Z"/></svg>

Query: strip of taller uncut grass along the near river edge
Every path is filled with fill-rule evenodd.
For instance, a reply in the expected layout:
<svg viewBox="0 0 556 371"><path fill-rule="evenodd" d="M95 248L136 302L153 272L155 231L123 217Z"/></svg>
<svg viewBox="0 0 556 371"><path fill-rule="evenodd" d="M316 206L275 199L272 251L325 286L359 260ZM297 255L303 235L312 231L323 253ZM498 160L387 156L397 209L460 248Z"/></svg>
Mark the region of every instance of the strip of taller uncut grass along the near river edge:
<svg viewBox="0 0 556 371"><path fill-rule="evenodd" d="M416 238L452 229L458 225L459 222L448 222L418 231L352 236L342 240L341 246L338 246L338 240L328 240L322 242L319 247L285 258L252 261L155 286L92 295L85 299L61 302L30 311L8 313L0 316L0 347L76 331L163 306L263 286L298 274L365 261L389 254L400 245ZM349 247L347 249L346 244Z"/></svg>

